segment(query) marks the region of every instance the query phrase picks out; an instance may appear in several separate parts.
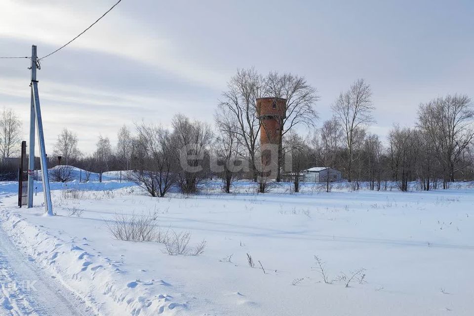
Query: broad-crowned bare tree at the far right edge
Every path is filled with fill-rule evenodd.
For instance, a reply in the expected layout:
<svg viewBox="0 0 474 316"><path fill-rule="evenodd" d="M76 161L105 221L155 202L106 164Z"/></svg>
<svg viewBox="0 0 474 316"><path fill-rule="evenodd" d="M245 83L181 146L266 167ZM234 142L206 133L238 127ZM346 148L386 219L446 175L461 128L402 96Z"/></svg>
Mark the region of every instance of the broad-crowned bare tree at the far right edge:
<svg viewBox="0 0 474 316"><path fill-rule="evenodd" d="M430 138L443 167L443 188L454 181L456 164L473 140L473 118L473 103L467 95L447 95L419 107L419 127Z"/></svg>

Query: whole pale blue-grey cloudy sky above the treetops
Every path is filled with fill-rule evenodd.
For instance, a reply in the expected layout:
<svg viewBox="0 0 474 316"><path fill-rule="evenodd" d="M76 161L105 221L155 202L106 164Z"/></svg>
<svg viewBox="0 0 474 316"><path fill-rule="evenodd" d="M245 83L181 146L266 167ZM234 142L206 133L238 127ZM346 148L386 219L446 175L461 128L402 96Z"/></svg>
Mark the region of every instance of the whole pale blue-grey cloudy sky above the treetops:
<svg viewBox="0 0 474 316"><path fill-rule="evenodd" d="M116 0L0 0L0 56L40 57L65 44ZM176 113L213 123L239 68L291 72L318 90L318 126L358 78L371 85L370 131L412 126L421 102L474 97L474 1L122 0L87 33L41 62L46 152L67 127L91 153L123 124L169 126ZM28 59L0 59L0 108L27 139ZM306 131L301 130L302 133Z"/></svg>

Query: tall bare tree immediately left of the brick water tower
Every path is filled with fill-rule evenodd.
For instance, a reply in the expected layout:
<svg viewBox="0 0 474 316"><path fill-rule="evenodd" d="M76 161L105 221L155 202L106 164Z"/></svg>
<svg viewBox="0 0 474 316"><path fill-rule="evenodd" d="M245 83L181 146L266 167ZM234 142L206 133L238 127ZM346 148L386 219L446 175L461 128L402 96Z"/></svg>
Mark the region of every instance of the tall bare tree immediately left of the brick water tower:
<svg viewBox="0 0 474 316"><path fill-rule="evenodd" d="M237 135L237 141L246 149L252 178L257 181L256 155L260 121L257 116L256 99L263 95L265 80L253 68L238 69L227 83L228 90L222 94L215 114L220 125Z"/></svg>

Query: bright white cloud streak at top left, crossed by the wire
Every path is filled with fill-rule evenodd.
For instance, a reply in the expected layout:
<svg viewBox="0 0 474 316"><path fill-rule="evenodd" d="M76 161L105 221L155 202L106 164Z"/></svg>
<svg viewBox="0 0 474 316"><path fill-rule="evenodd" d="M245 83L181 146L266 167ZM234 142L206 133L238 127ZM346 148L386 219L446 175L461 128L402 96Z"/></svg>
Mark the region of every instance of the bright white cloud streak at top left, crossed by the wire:
<svg viewBox="0 0 474 316"><path fill-rule="evenodd" d="M176 44L160 34L158 24L145 25L129 18L123 8L127 5L133 4L120 3L104 20L64 49L98 51L135 60L201 86L221 87L227 80L212 65L200 65L189 56L180 54ZM60 47L107 8L97 5L97 1L81 1L79 9L82 12L78 13L78 5L71 6L64 1L28 1L25 5L21 1L2 0L0 36ZM39 51L40 57L45 54L44 50ZM52 61L45 59L44 63Z"/></svg>

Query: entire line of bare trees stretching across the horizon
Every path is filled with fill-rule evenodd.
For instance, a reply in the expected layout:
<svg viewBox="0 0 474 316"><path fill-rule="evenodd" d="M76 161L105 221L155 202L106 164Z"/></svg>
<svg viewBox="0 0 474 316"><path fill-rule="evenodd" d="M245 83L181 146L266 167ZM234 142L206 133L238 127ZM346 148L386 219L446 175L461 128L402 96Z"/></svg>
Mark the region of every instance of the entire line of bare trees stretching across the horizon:
<svg viewBox="0 0 474 316"><path fill-rule="evenodd" d="M332 118L316 127L315 87L301 76L277 72L263 76L253 68L238 70L228 82L214 115L214 130L178 114L170 128L147 122L136 123L134 131L121 127L115 146L99 136L94 153L83 155L78 136L64 129L54 154L62 157L62 164L99 173L100 180L105 171L132 170L131 180L142 183L154 197L163 197L173 187L196 193L200 183L212 177L221 178L224 191L231 192L236 179L257 181L261 174L260 133L265 128L256 106L259 97L286 99L286 115L278 122L283 141L277 150L276 181L293 182L295 192L304 171L314 166L340 170L354 189L362 182L371 190L386 190L388 183L396 183L408 191L416 181L419 188L431 190L441 183L447 188L455 180L473 179L474 111L467 95L422 103L414 126L395 124L387 138L380 139L370 133L375 107L371 87L363 79L341 92L332 103ZM14 153L13 145L19 143L18 122L10 110L1 113L3 157ZM302 130L307 136L298 134ZM283 162L291 171L282 171ZM327 191L330 181L326 176ZM262 186L261 192L265 192Z"/></svg>

